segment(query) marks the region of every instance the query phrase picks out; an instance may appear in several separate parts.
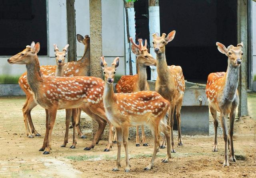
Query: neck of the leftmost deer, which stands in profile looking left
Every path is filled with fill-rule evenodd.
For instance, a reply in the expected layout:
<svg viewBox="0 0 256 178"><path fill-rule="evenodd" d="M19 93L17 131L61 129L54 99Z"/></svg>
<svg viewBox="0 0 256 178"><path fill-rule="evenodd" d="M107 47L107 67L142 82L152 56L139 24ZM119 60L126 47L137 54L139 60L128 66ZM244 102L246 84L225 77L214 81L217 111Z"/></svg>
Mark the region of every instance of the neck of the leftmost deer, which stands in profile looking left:
<svg viewBox="0 0 256 178"><path fill-rule="evenodd" d="M35 56L33 63L27 64L26 68L28 84L32 92L37 95L39 86L43 82L37 55Z"/></svg>

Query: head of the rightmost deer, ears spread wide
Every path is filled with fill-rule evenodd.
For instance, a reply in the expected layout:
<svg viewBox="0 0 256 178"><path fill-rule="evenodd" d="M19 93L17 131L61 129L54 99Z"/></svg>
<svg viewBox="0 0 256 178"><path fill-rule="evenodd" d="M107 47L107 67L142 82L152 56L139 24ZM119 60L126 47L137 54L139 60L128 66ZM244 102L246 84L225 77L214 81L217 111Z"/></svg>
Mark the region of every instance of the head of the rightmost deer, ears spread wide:
<svg viewBox="0 0 256 178"><path fill-rule="evenodd" d="M218 50L220 53L225 54L228 57L228 65L239 67L242 63L242 55L244 54L242 48L244 43L239 43L237 46L230 45L226 48L222 43L217 42Z"/></svg>

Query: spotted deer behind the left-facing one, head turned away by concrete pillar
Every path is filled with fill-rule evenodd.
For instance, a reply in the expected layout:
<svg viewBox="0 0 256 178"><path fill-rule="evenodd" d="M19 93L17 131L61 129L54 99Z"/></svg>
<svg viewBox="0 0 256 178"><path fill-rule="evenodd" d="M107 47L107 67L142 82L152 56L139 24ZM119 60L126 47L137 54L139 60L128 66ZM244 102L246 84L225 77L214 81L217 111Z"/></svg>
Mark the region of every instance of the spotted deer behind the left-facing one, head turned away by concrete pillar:
<svg viewBox="0 0 256 178"><path fill-rule="evenodd" d="M80 43L83 43L85 45L84 55L79 61L68 62L63 65L64 76L90 76L90 37L88 35L85 35L85 38L84 38L82 37L82 35L79 35L79 34L77 34L76 37ZM57 58L58 56L55 55L55 57ZM55 76L56 66L50 66L50 65L41 66L40 69L43 75ZM34 99L32 96L32 90L28 85L26 76L27 76L27 72L24 72L20 76L18 82L19 82L20 88L26 94L26 102L22 108L24 123L26 127L26 135L29 138L33 138L32 133L34 133L35 136L40 136L40 134L34 128L31 114L30 114L31 110L34 107L36 107L37 104L36 102L34 102ZM79 110L78 110L78 114L79 114ZM30 124L31 132L28 127L28 123ZM81 138L86 138L85 135L83 135L79 124L77 128L78 128L78 135L80 135Z"/></svg>

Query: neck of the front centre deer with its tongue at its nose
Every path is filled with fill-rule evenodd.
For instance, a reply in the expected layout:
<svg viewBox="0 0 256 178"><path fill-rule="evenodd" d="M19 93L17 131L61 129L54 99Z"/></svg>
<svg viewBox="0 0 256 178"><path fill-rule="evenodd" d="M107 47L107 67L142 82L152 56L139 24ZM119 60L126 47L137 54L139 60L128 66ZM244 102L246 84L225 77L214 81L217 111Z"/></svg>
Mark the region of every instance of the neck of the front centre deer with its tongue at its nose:
<svg viewBox="0 0 256 178"><path fill-rule="evenodd" d="M115 94L113 84L108 84L105 81L105 87L103 92L103 103L105 108L110 108L115 101Z"/></svg>

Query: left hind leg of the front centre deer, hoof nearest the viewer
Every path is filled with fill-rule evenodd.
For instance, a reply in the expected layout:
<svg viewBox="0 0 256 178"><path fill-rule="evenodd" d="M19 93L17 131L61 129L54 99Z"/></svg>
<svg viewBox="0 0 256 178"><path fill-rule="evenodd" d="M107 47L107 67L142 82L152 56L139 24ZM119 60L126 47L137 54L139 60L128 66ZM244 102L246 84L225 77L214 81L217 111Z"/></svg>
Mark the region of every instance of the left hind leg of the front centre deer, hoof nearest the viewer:
<svg viewBox="0 0 256 178"><path fill-rule="evenodd" d="M150 170L153 168L154 166L154 161L155 161L155 158L156 158L156 153L158 151L158 148L160 146L160 143L159 143L159 140L158 140L158 135L160 134L159 131L158 131L158 124L152 124L151 126L153 129L151 129L151 132L152 132L152 135L154 137L154 153L153 153L153 156L151 158L151 162L150 164L148 164L148 166L146 168L144 168L144 170Z"/></svg>

